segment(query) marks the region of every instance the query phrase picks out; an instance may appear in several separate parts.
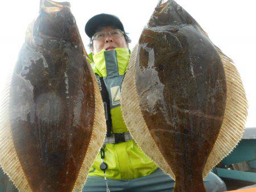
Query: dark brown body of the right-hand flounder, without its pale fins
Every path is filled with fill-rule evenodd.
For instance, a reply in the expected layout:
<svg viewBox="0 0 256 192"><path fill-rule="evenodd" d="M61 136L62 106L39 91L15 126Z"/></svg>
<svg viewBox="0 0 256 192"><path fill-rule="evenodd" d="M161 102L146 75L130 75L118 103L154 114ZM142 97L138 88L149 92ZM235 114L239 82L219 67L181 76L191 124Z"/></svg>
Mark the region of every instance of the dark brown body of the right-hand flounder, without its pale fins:
<svg viewBox="0 0 256 192"><path fill-rule="evenodd" d="M225 112L225 73L212 42L175 1L156 7L142 32L135 82L175 191L205 191L202 174Z"/></svg>

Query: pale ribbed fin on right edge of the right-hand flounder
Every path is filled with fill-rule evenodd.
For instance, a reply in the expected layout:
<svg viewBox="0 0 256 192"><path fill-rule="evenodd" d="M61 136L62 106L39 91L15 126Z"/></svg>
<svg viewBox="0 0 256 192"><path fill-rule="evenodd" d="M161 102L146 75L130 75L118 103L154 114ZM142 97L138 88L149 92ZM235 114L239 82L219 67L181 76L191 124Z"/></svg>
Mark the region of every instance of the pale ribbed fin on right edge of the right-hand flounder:
<svg viewBox="0 0 256 192"><path fill-rule="evenodd" d="M218 47L215 48L222 60L226 76L226 107L221 130L205 164L203 177L206 177L222 158L228 156L241 140L248 107L245 90L236 66Z"/></svg>

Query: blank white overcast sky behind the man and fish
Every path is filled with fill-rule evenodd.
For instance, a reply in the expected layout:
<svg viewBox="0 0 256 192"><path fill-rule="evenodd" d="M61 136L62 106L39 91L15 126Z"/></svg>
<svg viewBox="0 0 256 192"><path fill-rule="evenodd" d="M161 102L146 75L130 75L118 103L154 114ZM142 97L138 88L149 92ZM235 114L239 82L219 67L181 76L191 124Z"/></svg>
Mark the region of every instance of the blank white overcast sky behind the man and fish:
<svg viewBox="0 0 256 192"><path fill-rule="evenodd" d="M105 12L117 15L122 20L132 40L130 44L132 49L158 1L71 0L69 2L85 47L89 43L84 32L86 21L93 15ZM234 60L249 102L246 127L256 127L255 1L177 0L176 2L197 20L213 43ZM38 15L39 0L2 1L1 7L0 90L3 89L7 76L13 71L18 52L24 43L28 24Z"/></svg>

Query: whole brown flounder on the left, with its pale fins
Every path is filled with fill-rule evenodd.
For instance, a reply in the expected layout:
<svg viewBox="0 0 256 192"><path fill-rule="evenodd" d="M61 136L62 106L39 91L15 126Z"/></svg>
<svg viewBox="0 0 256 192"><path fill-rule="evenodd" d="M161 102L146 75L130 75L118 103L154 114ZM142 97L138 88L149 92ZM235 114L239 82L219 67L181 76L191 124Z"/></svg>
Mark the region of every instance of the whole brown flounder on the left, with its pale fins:
<svg viewBox="0 0 256 192"><path fill-rule="evenodd" d="M41 1L2 98L0 163L20 191L80 191L105 138L100 90L69 7Z"/></svg>

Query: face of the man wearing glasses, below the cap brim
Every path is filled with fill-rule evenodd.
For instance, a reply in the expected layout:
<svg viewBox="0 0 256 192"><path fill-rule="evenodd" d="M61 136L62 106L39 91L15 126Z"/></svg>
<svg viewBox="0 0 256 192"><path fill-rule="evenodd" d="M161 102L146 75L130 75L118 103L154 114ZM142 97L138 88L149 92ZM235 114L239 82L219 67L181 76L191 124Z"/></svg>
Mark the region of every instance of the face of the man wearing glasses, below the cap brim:
<svg viewBox="0 0 256 192"><path fill-rule="evenodd" d="M117 47L123 47L123 48L128 48L128 44L125 41L125 37L123 34L119 37L111 37L109 35L109 31L115 30L116 28L109 26L109 27L102 27L99 28L96 32L106 32L106 39L98 40L94 39L93 40L93 45L92 45L92 52L93 55L100 52L102 49L106 49L106 51L113 50L114 48Z"/></svg>

